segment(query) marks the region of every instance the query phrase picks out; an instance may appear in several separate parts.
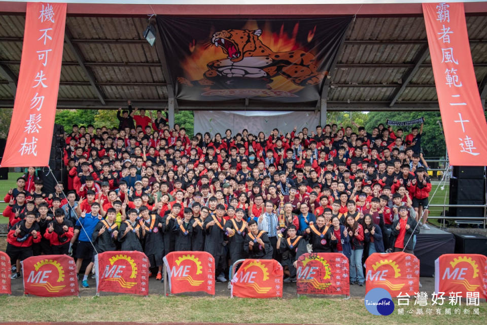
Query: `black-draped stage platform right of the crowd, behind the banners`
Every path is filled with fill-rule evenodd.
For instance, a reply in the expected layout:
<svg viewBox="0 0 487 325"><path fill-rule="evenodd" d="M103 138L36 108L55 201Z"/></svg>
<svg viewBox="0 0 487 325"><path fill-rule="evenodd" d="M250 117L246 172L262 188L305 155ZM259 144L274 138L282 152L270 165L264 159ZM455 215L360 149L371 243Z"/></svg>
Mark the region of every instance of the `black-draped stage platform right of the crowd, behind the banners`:
<svg viewBox="0 0 487 325"><path fill-rule="evenodd" d="M435 260L442 254L455 252L455 236L432 225L431 229L421 229L416 236L414 255L420 259L420 275L433 276Z"/></svg>

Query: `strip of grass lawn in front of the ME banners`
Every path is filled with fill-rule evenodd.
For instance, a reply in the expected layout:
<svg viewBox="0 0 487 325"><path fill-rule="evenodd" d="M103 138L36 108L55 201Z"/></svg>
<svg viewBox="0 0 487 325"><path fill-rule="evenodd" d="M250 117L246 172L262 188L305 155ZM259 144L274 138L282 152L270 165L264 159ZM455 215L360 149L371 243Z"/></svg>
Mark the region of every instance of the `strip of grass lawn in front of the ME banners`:
<svg viewBox="0 0 487 325"><path fill-rule="evenodd" d="M428 299L431 303L431 300ZM363 299L336 298L294 299L229 299L223 297L163 298L151 295L147 298L134 296L102 296L95 298L41 298L0 297L0 321L177 321L177 322L230 322L230 323L327 323L327 324L485 324L487 304L481 302L479 315L473 314L473 306L462 303L460 314L436 315L437 306L422 306L423 314L416 315L414 299L404 308L404 315L396 310L387 317L374 316L367 312ZM447 305L447 302L445 302ZM464 314L464 308L470 314ZM28 312L26 312L28 308ZM433 314L427 314L427 308ZM407 310L412 310L408 314Z"/></svg>

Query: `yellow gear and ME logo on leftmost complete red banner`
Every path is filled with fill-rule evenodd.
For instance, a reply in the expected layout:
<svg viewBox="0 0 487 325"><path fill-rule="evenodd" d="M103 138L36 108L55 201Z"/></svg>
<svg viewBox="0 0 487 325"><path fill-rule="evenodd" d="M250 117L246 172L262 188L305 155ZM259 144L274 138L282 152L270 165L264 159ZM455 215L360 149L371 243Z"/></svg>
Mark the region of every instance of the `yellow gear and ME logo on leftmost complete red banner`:
<svg viewBox="0 0 487 325"><path fill-rule="evenodd" d="M56 283L64 281L64 270L56 260L42 260L34 264L34 270L38 272L34 274L32 271L27 278L27 282L31 282L32 286L44 287L50 293L60 292L66 285L53 285L49 283L50 277L48 274L57 273Z"/></svg>

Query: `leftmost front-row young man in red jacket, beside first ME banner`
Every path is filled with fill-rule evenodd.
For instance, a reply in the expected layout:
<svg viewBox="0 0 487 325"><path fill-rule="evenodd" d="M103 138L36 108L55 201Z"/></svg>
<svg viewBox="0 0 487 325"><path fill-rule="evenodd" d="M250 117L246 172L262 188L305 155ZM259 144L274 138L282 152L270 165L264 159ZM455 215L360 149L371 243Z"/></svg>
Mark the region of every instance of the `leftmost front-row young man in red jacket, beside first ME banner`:
<svg viewBox="0 0 487 325"><path fill-rule="evenodd" d="M41 228L36 222L36 213L27 212L25 220L17 223L7 235L7 255L12 263L32 256L32 244L41 241ZM12 274L12 279L20 277L20 269Z"/></svg>

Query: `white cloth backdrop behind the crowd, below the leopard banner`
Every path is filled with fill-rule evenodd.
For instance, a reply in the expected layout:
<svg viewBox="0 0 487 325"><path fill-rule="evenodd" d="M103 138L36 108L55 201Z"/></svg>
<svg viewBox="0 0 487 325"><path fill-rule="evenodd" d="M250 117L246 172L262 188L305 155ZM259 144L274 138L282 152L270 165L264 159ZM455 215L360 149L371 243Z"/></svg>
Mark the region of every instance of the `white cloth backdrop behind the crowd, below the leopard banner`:
<svg viewBox="0 0 487 325"><path fill-rule="evenodd" d="M320 115L314 112L230 112L230 111L195 111L194 133L210 132L212 136L220 133L225 136L225 130L232 130L232 135L243 129L257 135L264 131L266 137L274 128L282 130L284 134L291 132L294 126L297 131L307 127L309 133L315 131L320 124Z"/></svg>

